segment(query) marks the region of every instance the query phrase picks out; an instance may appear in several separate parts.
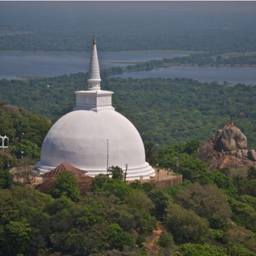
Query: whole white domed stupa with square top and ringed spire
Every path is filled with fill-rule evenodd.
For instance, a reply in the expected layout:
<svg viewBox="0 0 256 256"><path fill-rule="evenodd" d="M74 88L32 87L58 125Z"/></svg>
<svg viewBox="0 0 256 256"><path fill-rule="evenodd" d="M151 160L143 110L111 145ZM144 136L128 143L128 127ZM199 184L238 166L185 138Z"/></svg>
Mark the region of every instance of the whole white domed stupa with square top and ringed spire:
<svg viewBox="0 0 256 256"><path fill-rule="evenodd" d="M62 162L86 170L94 177L107 167L119 166L127 180L148 179L154 169L145 162L145 151L135 126L112 106L110 91L100 90L100 71L95 37L88 90L77 91L76 106L61 117L48 132L37 168L49 172Z"/></svg>

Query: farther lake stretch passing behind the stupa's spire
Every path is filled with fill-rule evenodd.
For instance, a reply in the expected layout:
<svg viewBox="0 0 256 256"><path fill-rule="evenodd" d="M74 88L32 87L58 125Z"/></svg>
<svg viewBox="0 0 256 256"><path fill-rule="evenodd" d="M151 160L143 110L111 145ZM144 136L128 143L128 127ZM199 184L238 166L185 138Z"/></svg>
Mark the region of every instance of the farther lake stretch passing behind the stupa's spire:
<svg viewBox="0 0 256 256"><path fill-rule="evenodd" d="M187 56L181 53L98 53L100 69L134 62ZM91 53L0 53L0 79L18 76L59 76L88 72Z"/></svg>

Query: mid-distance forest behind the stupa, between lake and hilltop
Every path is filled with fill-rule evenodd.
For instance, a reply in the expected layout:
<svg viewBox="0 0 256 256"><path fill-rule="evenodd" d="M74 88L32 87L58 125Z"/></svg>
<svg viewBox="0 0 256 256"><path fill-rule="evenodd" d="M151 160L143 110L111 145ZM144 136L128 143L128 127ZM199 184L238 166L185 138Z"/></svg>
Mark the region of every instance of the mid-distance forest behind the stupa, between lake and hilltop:
<svg viewBox="0 0 256 256"><path fill-rule="evenodd" d="M256 87L178 78L108 77L115 72L122 69L102 72L101 87L115 92L114 107L134 123L144 141L161 145L190 139L205 142L231 120L247 136L249 148L256 148ZM74 91L86 88L83 73L28 82L2 79L0 97L56 120L73 109Z"/></svg>

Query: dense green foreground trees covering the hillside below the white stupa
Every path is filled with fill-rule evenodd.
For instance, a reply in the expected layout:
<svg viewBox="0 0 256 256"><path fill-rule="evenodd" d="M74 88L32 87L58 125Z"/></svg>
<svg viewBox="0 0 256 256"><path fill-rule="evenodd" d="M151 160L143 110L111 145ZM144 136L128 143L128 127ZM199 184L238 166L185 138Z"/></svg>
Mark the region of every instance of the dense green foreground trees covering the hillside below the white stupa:
<svg viewBox="0 0 256 256"><path fill-rule="evenodd" d="M160 166L178 154L185 178L164 189L126 183L117 167L112 178L98 175L83 198L68 172L57 176L50 195L9 182L0 189L0 254L147 255L160 223L160 255L255 256L256 168L243 176L228 168L209 173L197 146L190 141L161 149Z"/></svg>

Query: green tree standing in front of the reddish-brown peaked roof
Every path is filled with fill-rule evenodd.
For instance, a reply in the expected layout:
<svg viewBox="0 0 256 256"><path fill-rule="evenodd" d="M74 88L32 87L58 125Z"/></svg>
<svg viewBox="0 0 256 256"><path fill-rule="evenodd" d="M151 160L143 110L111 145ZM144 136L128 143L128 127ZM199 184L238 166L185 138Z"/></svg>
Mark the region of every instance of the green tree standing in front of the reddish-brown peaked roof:
<svg viewBox="0 0 256 256"><path fill-rule="evenodd" d="M82 199L81 189L78 186L75 175L67 170L63 170L57 176L57 180L53 182L50 193L54 198L66 196L72 201L80 201Z"/></svg>

